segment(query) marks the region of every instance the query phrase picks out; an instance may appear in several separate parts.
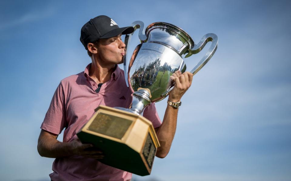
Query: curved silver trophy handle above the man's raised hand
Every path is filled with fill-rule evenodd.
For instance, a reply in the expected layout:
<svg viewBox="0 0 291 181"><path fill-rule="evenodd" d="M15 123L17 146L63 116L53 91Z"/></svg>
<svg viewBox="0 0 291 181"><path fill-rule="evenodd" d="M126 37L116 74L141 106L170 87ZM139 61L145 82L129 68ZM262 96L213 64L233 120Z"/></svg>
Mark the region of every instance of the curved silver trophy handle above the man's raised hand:
<svg viewBox="0 0 291 181"><path fill-rule="evenodd" d="M197 45L194 45L193 49L189 50L189 53L185 56L185 58L191 56L192 54L196 54L200 52L206 43L212 41L208 52L203 56L203 58L198 62L198 64L190 71L193 75L195 75L213 56L217 49L218 38L214 33L208 33L202 37L200 42Z"/></svg>

